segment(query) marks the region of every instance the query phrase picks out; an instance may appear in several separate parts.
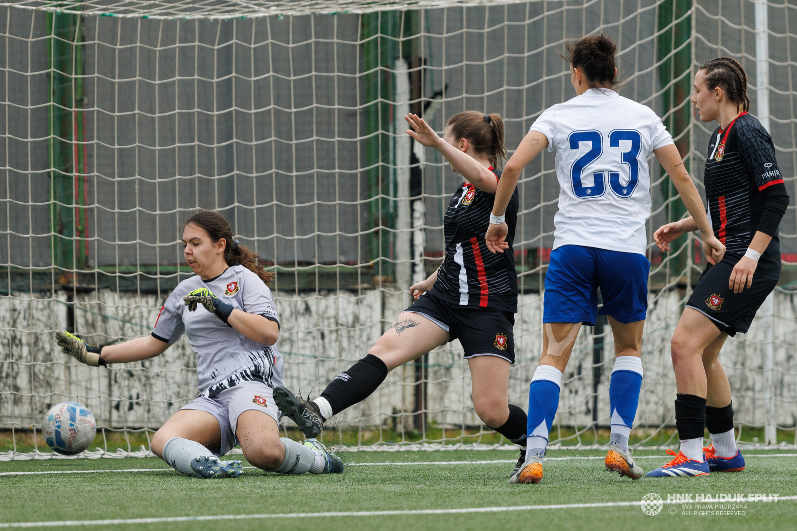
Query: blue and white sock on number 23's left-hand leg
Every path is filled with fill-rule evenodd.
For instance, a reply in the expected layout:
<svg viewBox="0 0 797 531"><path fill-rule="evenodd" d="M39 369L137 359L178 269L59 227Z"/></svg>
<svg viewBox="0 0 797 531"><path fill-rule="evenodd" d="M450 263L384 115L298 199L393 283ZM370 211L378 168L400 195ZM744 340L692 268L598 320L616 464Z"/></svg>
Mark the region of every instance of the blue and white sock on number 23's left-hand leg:
<svg viewBox="0 0 797 531"><path fill-rule="evenodd" d="M559 386L562 373L551 365L540 365L528 388L528 424L526 456L542 457L548 446L548 433L559 407Z"/></svg>

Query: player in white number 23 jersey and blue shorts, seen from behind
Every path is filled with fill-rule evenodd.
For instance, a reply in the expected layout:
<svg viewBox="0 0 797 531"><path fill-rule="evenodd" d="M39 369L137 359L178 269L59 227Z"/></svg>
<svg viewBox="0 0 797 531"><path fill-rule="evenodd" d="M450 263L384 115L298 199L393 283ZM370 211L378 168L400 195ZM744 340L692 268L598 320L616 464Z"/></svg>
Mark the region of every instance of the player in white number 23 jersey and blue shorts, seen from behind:
<svg viewBox="0 0 797 531"><path fill-rule="evenodd" d="M614 336L608 470L638 479L642 469L628 449L642 386L642 328L647 311L650 262L645 222L650 216L647 158L656 155L673 179L715 259L724 246L714 238L700 195L681 163L662 120L613 88L614 43L606 36L568 43L571 82L577 96L543 112L507 163L486 235L490 250L505 248L505 205L520 171L548 148L556 150L559 211L545 275L543 353L528 397L526 462L511 482L538 483L559 386L582 324L595 325L597 291Z"/></svg>

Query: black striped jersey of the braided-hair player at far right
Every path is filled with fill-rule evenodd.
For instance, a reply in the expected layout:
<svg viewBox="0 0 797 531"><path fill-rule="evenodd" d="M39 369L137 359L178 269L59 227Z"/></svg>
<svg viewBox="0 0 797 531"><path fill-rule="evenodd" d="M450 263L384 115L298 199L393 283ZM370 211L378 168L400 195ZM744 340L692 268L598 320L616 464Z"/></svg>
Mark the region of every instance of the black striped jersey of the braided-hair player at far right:
<svg viewBox="0 0 797 531"><path fill-rule="evenodd" d="M705 163L705 195L714 235L728 258L744 256L756 230L772 237L756 275L780 276L778 226L789 198L775 147L755 116L742 112L711 138Z"/></svg>

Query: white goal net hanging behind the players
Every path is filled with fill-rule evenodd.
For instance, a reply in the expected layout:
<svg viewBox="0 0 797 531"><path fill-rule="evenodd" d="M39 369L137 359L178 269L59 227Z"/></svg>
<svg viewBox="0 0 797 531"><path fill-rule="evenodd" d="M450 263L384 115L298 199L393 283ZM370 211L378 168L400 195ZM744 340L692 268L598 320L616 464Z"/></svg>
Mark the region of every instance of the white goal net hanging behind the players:
<svg viewBox="0 0 797 531"><path fill-rule="evenodd" d="M92 455L142 445L144 454L153 431L197 395L185 336L162 356L107 369L77 364L54 338L61 328L90 344L149 334L168 293L192 274L179 241L197 209L224 215L276 273L286 384L320 394L442 260L442 216L461 178L406 136L402 116L442 131L456 112L499 112L511 151L545 108L575 95L559 55L571 37L614 39L622 95L663 117L701 191L714 126L692 112L692 77L708 59L736 57L794 197L792 18L787 0L0 4L0 458L41 458L43 416L65 400L96 417ZM655 160L651 172L649 242L685 212ZM525 409L559 194L552 154L525 169L519 191L509 400ZM779 288L720 359L741 439L794 444L795 207L780 230ZM667 254L650 243L648 258L632 439L668 446L677 439L669 339L705 260L693 235ZM579 332L555 447L605 439L613 364L603 317ZM325 442L505 443L475 415L470 386L460 345L447 344L391 372L328 423Z"/></svg>

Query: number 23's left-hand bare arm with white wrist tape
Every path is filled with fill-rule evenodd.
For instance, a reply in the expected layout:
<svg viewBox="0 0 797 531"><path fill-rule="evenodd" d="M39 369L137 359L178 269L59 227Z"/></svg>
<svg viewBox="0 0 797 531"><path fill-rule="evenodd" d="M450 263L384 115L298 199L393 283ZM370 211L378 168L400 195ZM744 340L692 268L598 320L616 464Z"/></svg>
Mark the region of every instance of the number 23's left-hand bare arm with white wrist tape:
<svg viewBox="0 0 797 531"><path fill-rule="evenodd" d="M534 157L540 155L540 151L545 148L548 148L548 138L541 132L530 131L520 142L520 146L517 147L512 158L506 163L493 203L493 216L490 217L490 226L487 229L486 243L491 253L503 253L505 249L509 248L505 241L509 227L503 220L506 207L509 200L512 199L523 168L532 162Z"/></svg>

